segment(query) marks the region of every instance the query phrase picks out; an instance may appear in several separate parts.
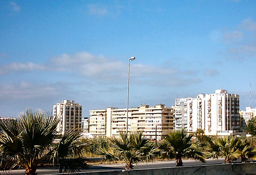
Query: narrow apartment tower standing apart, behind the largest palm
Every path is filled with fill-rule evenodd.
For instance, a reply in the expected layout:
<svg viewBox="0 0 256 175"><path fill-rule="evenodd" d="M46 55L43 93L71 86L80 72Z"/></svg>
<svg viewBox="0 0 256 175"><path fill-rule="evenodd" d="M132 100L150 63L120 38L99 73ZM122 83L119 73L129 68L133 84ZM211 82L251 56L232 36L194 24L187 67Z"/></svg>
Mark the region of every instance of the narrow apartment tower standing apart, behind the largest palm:
<svg viewBox="0 0 256 175"><path fill-rule="evenodd" d="M61 103L53 105L53 116L60 118L58 132L69 129L82 132L82 105L75 103L74 100L62 100Z"/></svg>

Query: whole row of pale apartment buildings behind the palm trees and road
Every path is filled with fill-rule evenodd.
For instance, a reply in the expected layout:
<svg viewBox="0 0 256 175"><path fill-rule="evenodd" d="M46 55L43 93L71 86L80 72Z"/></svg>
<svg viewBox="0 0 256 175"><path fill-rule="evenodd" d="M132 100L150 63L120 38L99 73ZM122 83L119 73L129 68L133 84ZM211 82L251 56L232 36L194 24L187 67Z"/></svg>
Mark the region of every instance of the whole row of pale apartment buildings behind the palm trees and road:
<svg viewBox="0 0 256 175"><path fill-rule="evenodd" d="M54 116L60 117L59 132L77 129L85 136L119 136L126 131L127 109L107 107L90 110L82 117L82 106L74 100L62 100L53 106ZM248 120L256 117L256 108L239 110L239 95L226 90L213 94L198 94L196 98L176 98L175 105L140 105L128 109L128 132L143 130L150 139L160 140L168 132L184 128L188 132L203 129L206 135L242 135Z"/></svg>

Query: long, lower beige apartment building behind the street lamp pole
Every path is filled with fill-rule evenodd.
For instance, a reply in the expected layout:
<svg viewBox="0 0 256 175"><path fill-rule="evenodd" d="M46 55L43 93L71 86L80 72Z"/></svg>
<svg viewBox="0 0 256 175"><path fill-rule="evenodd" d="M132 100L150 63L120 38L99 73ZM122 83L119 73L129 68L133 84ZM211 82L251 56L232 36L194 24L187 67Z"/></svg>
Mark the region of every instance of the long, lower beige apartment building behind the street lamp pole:
<svg viewBox="0 0 256 175"><path fill-rule="evenodd" d="M126 108L108 107L103 110L90 110L90 133L101 136L119 136L126 131ZM173 130L173 108L165 105L140 105L128 109L128 132L143 130L150 139L161 139Z"/></svg>

